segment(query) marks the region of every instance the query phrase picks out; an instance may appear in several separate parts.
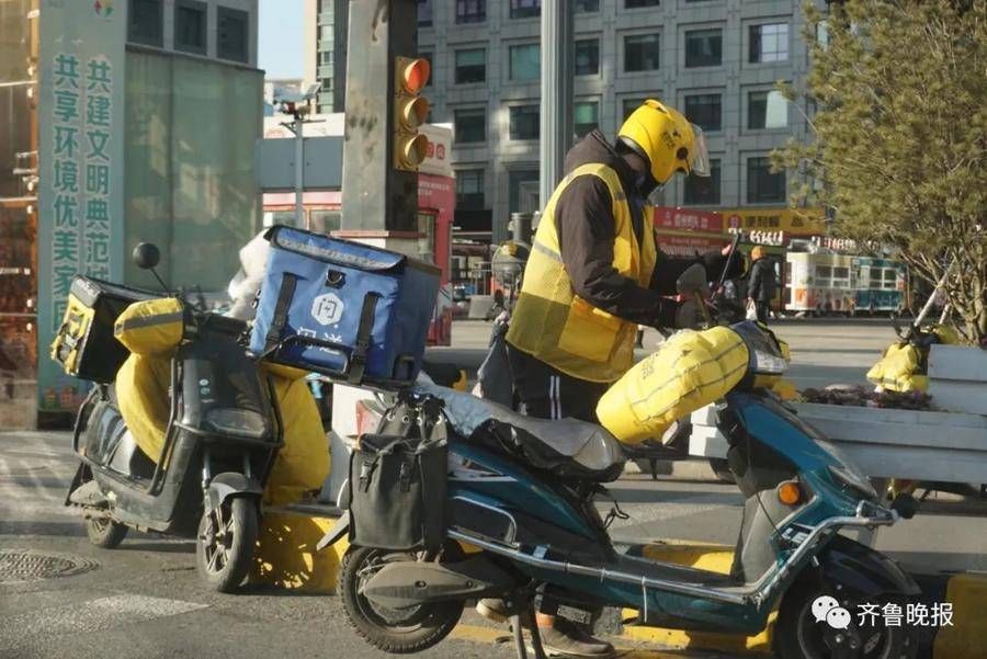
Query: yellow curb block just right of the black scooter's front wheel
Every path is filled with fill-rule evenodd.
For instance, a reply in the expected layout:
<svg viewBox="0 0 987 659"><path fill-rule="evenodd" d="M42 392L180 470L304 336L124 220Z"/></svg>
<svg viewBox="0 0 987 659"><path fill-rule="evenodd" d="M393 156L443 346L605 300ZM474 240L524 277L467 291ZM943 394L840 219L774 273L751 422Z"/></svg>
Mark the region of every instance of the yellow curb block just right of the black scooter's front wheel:
<svg viewBox="0 0 987 659"><path fill-rule="evenodd" d="M342 538L324 552L315 550L334 523L334 518L302 511L264 510L249 583L314 594L334 593L339 565L349 543Z"/></svg>

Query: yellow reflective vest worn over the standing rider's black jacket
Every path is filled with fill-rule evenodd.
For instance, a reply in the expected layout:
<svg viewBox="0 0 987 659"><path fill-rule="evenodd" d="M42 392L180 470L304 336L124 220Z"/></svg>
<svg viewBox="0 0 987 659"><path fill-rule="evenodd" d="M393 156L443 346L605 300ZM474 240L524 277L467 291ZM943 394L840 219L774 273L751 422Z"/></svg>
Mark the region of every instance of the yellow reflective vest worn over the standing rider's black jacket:
<svg viewBox="0 0 987 659"><path fill-rule="evenodd" d="M644 230L638 243L631 206L617 173L602 163L583 164L555 189L542 214L507 340L567 375L612 383L634 362L637 325L594 307L572 291L559 250L555 207L577 177L598 177L610 190L614 269L643 287L650 285L658 258L649 221L651 207L644 208Z"/></svg>

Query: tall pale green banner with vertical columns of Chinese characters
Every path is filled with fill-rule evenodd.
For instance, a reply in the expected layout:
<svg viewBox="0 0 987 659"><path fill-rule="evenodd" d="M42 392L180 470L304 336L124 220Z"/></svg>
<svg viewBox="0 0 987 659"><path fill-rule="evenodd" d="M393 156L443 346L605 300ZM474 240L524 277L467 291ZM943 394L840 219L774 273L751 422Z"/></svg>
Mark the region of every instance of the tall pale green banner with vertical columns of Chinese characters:
<svg viewBox="0 0 987 659"><path fill-rule="evenodd" d="M126 12L109 7L41 3L39 411L71 411L88 388L45 356L72 277L123 275Z"/></svg>

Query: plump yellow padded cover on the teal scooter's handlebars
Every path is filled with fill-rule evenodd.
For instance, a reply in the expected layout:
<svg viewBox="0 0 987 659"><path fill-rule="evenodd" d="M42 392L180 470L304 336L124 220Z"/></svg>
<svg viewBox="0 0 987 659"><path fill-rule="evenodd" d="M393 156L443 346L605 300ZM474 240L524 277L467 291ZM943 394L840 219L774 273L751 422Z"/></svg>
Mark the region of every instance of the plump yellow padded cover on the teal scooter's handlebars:
<svg viewBox="0 0 987 659"><path fill-rule="evenodd" d="M660 438L676 420L723 398L747 367L747 345L731 329L681 331L606 390L597 417L622 442Z"/></svg>

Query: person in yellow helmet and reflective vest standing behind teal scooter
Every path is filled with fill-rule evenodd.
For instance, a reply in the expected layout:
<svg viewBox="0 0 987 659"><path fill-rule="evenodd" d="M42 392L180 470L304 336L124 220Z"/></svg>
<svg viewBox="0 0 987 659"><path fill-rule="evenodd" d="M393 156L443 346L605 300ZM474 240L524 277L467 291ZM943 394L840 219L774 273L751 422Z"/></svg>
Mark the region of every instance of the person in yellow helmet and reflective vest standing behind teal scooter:
<svg viewBox="0 0 987 659"><path fill-rule="evenodd" d="M729 248L692 259L658 250L647 198L676 172L708 177L706 143L682 114L655 100L631 114L616 144L593 130L566 156L566 177L542 214L507 334L527 414L595 423L600 398L633 364L637 326L695 323L695 303L668 296L693 263L718 277ZM477 610L502 620L502 606L484 600ZM538 607L546 649L613 654L610 644L556 620L557 606L549 592Z"/></svg>

